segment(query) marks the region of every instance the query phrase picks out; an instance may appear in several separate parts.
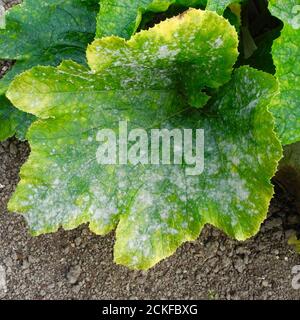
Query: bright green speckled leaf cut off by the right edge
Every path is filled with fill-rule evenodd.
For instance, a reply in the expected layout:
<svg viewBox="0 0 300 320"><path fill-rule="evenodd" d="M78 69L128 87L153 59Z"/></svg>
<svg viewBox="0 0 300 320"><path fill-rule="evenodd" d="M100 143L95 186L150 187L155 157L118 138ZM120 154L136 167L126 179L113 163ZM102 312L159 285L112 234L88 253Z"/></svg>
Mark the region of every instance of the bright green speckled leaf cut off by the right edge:
<svg viewBox="0 0 300 320"><path fill-rule="evenodd" d="M287 145L300 140L300 0L271 0L269 7L284 22L272 50L280 95L271 110L280 139Z"/></svg>

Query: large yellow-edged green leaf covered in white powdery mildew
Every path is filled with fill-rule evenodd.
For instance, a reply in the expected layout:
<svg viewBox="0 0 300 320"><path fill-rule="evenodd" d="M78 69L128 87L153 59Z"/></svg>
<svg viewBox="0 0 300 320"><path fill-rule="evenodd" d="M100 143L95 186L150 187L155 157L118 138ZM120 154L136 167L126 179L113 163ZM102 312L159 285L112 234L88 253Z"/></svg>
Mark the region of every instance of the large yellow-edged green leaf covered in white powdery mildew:
<svg viewBox="0 0 300 320"><path fill-rule="evenodd" d="M97 234L117 227L115 261L134 269L196 239L205 223L237 239L255 234L281 157L267 110L276 81L244 67L209 111L190 104L206 101L199 88L195 98L194 80L221 85L236 57L234 28L213 12L190 10L127 42L96 40L92 71L64 62L17 77L8 97L41 119L29 130L32 153L9 209L23 213L35 235L86 222ZM117 132L119 121L128 131L205 129L203 174L187 175L187 165L100 165L98 131Z"/></svg>

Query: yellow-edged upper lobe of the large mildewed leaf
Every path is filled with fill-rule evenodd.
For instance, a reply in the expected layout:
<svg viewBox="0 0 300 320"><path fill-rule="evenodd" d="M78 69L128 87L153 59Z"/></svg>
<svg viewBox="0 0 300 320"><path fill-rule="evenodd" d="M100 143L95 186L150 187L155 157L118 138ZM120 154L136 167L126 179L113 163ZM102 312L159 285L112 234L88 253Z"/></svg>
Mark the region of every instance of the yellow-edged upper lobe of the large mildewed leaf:
<svg viewBox="0 0 300 320"><path fill-rule="evenodd" d="M225 19L190 10L127 42L116 37L97 39L88 48L87 58L96 72L105 69L111 76L114 70L123 70L127 74L124 88L133 85L128 82L143 89L177 88L191 105L202 107L208 96L201 89L217 88L230 79L236 48L236 31Z"/></svg>

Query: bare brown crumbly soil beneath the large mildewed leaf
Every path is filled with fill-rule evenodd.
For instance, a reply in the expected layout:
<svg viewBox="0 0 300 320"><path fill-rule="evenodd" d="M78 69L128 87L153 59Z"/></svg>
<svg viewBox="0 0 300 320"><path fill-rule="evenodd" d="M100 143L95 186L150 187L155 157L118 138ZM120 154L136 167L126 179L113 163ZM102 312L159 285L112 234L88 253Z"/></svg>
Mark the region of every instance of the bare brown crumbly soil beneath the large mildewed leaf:
<svg viewBox="0 0 300 320"><path fill-rule="evenodd" d="M300 299L292 287L300 255L287 244L299 214L280 187L256 237L241 243L207 226L197 241L137 272L113 263L113 233L81 226L33 238L23 217L7 212L28 154L26 142L0 144L0 299Z"/></svg>

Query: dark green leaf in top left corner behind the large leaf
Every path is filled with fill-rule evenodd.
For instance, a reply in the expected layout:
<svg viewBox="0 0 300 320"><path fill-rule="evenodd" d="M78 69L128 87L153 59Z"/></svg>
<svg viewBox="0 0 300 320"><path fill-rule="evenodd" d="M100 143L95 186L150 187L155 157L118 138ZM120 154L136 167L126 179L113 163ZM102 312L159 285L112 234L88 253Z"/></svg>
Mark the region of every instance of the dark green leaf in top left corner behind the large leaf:
<svg viewBox="0 0 300 320"><path fill-rule="evenodd" d="M58 65L64 59L85 63L87 44L95 36L98 2L25 0L8 10L6 28L0 30L0 58L16 63L0 80L0 95L16 75L33 66ZM0 140L15 133L24 137L24 128L34 118L11 106L8 109L7 103L0 103L0 114L6 119L5 124L0 122Z"/></svg>

